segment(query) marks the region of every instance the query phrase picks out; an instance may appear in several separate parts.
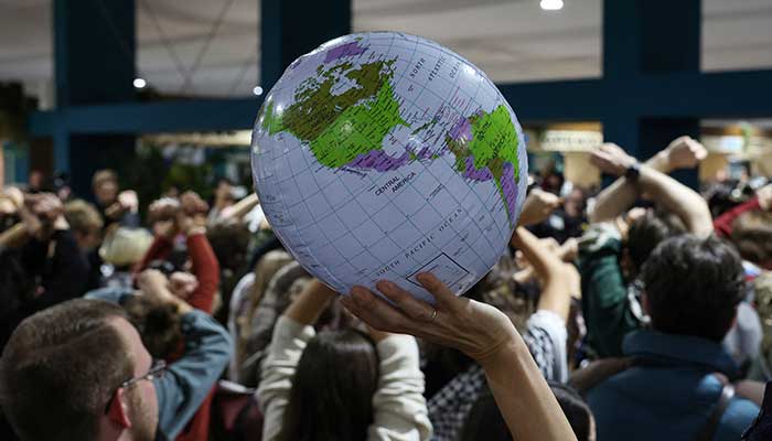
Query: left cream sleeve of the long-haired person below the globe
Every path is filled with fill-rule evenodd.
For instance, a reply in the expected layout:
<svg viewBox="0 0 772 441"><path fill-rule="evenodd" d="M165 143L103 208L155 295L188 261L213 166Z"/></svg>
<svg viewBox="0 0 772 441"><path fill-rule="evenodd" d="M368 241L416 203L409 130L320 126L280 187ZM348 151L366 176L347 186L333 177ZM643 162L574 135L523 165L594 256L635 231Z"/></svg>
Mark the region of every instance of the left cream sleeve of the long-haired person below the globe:
<svg viewBox="0 0 772 441"><path fill-rule="evenodd" d="M262 378L257 388L257 402L264 415L265 441L276 440L279 435L294 369L314 334L313 326L283 315L276 322L268 356L262 364Z"/></svg>

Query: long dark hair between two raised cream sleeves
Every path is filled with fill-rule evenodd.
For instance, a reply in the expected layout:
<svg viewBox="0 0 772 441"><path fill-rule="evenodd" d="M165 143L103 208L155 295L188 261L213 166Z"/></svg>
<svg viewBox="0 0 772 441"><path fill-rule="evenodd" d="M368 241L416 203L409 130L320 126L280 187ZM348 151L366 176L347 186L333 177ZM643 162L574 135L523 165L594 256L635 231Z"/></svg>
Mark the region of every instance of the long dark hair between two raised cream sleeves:
<svg viewBox="0 0 772 441"><path fill-rule="evenodd" d="M378 379L378 354L368 335L356 330L320 332L298 363L280 438L366 439Z"/></svg>

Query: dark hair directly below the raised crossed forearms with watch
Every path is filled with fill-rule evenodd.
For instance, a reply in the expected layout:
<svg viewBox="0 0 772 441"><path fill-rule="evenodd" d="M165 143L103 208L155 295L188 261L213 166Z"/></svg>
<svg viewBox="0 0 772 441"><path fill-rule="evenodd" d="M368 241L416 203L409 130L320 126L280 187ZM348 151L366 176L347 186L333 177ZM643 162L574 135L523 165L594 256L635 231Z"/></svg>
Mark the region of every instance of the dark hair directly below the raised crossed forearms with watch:
<svg viewBox="0 0 772 441"><path fill-rule="evenodd" d="M633 220L628 232L626 248L630 259L640 270L654 248L663 240L686 233L684 223L660 208L648 209L645 215Z"/></svg>

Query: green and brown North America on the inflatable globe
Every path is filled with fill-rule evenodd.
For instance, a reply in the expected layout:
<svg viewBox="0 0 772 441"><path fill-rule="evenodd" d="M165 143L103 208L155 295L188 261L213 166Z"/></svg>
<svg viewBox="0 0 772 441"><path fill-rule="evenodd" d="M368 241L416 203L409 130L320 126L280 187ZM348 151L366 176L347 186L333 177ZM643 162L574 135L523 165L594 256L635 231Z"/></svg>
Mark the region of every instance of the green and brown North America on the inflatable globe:
<svg viewBox="0 0 772 441"><path fill-rule="evenodd" d="M261 128L272 136L281 131L307 142L317 160L341 168L360 154L382 150L382 141L397 126L407 126L399 115L392 77L394 60L366 63L352 68L342 63L317 69L319 78L305 79L294 103L279 111L266 103ZM342 94L333 88L345 76L356 86Z"/></svg>

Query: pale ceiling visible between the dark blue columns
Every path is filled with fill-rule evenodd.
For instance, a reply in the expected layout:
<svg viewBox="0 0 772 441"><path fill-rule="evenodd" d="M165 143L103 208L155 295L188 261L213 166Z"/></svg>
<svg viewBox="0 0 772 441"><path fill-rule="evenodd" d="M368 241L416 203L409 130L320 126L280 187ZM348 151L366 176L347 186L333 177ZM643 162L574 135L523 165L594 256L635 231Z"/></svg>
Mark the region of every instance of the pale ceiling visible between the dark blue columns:
<svg viewBox="0 0 772 441"><path fill-rule="evenodd" d="M258 1L136 1L138 72L149 85L173 94L246 96L259 84ZM353 28L436 40L495 82L599 77L602 0L565 3L545 12L538 0L353 0ZM772 67L772 1L704 0L703 10L705 71ZM53 95L51 21L51 0L0 0L0 80L22 80L43 106Z"/></svg>

